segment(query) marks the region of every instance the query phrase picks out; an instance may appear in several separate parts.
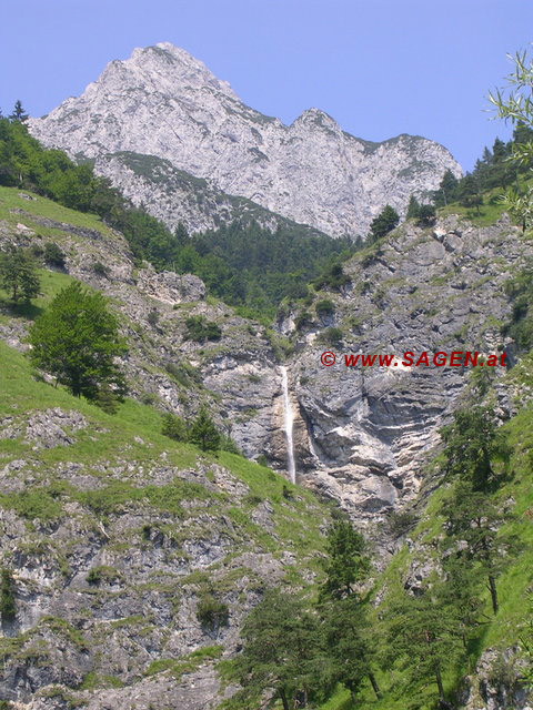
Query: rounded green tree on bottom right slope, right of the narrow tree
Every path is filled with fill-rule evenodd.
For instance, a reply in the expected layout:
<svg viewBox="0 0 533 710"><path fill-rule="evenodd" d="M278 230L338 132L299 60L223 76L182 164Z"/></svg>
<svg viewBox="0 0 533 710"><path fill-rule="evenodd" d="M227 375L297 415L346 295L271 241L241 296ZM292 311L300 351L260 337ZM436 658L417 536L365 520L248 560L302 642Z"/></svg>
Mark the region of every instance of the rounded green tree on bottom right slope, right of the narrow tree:
<svg viewBox="0 0 533 710"><path fill-rule="evenodd" d="M406 671L411 693L434 683L439 707L452 710L442 678L461 656L462 643L454 609L441 604L440 590L435 585L416 597L405 594L389 607L386 657L391 667L398 663Z"/></svg>

